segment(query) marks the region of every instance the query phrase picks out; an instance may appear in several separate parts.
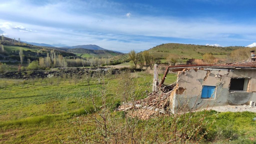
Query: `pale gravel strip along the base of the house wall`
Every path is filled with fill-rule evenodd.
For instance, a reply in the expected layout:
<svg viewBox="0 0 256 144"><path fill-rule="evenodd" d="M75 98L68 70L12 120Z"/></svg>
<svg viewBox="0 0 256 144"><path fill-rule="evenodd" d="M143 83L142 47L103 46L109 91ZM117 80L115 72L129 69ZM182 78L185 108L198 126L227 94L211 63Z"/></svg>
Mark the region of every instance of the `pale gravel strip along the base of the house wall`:
<svg viewBox="0 0 256 144"><path fill-rule="evenodd" d="M248 106L248 105L237 105L237 106L218 106L218 107L212 107L212 108L207 108L208 110L216 110L219 112L226 112L226 111L231 111L231 112L242 112L242 111L250 111L250 112L256 112L256 107Z"/></svg>

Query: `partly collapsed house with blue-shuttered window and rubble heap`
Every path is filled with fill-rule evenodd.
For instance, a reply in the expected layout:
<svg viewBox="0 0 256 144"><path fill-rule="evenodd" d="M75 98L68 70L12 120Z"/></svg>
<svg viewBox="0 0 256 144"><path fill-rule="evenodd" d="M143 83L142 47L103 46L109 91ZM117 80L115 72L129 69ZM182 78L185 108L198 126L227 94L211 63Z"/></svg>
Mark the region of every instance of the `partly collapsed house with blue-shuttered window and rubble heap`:
<svg viewBox="0 0 256 144"><path fill-rule="evenodd" d="M130 108L153 112L176 113L226 105L255 105L256 61L253 58L226 65L167 66L164 77L158 79L154 67L153 92L145 99L135 101L118 110ZM177 72L172 85L164 85L168 72Z"/></svg>

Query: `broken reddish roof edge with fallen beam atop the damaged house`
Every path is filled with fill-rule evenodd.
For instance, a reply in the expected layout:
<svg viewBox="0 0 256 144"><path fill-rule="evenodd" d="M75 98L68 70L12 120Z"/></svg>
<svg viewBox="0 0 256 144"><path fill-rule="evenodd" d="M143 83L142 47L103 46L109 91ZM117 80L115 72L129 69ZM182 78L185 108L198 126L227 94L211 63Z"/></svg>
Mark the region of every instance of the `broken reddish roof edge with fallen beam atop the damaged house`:
<svg viewBox="0 0 256 144"><path fill-rule="evenodd" d="M164 84L165 78L170 71L177 72L182 71L185 68L228 68L228 69L255 69L256 65L215 65L215 64L202 64L202 65L178 65L178 66L166 66L164 77L160 83L160 87Z"/></svg>

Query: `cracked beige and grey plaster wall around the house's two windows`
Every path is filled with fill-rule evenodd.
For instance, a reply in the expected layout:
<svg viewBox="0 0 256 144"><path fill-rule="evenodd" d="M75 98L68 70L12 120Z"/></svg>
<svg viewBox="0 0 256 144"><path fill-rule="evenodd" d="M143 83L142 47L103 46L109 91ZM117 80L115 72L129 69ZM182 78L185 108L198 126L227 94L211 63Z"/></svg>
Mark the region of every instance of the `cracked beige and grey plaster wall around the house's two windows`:
<svg viewBox="0 0 256 144"><path fill-rule="evenodd" d="M229 91L231 78L246 78L245 91ZM211 99L202 99L202 86L216 86L215 96ZM182 108L199 109L212 106L243 105L256 101L256 71L243 69L213 69L187 68L179 71L177 86L170 101L171 109ZM173 111L174 112L174 111Z"/></svg>

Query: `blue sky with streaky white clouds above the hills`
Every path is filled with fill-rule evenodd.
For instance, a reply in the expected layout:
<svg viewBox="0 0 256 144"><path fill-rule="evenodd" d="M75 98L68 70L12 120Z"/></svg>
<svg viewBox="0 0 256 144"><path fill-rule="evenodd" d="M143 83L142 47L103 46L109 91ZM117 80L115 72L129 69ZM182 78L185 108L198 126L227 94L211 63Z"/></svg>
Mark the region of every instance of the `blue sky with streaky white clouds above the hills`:
<svg viewBox="0 0 256 144"><path fill-rule="evenodd" d="M163 43L256 46L254 0L0 0L0 34L127 53Z"/></svg>

